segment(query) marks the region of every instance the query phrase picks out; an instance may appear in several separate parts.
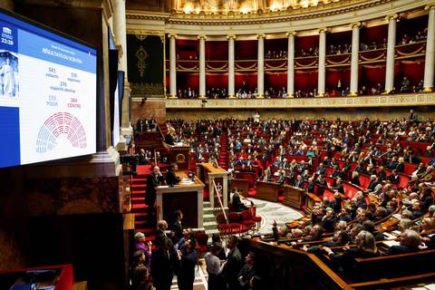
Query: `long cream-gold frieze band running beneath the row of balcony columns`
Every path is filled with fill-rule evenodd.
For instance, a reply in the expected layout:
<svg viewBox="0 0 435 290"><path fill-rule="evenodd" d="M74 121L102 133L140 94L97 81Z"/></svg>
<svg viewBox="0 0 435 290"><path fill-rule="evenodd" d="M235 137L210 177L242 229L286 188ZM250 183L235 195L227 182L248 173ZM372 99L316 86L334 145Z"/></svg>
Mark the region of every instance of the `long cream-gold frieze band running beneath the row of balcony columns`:
<svg viewBox="0 0 435 290"><path fill-rule="evenodd" d="M140 100L140 99L138 99ZM207 109L297 109L297 108L376 108L435 106L435 93L374 95L337 98L225 99L207 100ZM140 102L140 101L137 101ZM166 108L200 109L202 100L167 99Z"/></svg>

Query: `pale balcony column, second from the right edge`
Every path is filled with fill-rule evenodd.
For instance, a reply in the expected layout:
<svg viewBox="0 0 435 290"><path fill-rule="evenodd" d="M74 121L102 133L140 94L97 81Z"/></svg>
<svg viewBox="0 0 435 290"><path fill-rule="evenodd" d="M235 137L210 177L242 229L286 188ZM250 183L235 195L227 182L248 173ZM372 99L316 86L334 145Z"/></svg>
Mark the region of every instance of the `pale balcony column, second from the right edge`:
<svg viewBox="0 0 435 290"><path fill-rule="evenodd" d="M396 46L396 19L398 14L385 17L388 20L387 67L385 72L385 93L394 87L394 49Z"/></svg>

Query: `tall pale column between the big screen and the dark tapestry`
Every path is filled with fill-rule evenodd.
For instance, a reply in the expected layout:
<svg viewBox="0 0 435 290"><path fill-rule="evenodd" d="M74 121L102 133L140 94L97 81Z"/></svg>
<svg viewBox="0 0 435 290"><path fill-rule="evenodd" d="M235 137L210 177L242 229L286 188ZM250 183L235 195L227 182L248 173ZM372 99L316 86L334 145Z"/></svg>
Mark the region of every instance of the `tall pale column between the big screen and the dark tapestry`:
<svg viewBox="0 0 435 290"><path fill-rule="evenodd" d="M124 72L124 98L122 99L121 111L121 134L131 135L130 126L130 83L127 70L127 28L125 20L125 0L113 1L113 33L115 34L116 46L120 53L118 70Z"/></svg>

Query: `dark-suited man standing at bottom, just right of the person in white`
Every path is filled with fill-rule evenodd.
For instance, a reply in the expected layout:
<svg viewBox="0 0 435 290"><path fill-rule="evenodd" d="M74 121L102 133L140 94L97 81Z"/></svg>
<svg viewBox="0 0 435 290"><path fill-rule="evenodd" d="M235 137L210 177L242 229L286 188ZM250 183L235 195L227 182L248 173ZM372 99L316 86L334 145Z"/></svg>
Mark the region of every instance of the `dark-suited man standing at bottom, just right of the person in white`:
<svg viewBox="0 0 435 290"><path fill-rule="evenodd" d="M227 248L229 248L229 253L227 256L227 261L225 261L221 275L224 277L227 283L228 290L239 290L240 283L238 282L238 273L242 268L242 255L237 248L238 240L237 237L231 236L227 242Z"/></svg>

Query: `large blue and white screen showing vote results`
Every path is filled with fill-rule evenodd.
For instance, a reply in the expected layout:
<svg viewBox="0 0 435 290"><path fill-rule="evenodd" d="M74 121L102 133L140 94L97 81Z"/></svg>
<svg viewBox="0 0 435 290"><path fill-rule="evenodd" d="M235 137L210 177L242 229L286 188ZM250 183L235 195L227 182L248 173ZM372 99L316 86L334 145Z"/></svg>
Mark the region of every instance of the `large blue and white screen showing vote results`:
<svg viewBox="0 0 435 290"><path fill-rule="evenodd" d="M0 168L96 150L94 48L0 10Z"/></svg>

